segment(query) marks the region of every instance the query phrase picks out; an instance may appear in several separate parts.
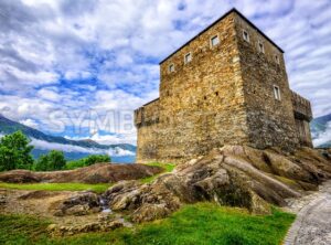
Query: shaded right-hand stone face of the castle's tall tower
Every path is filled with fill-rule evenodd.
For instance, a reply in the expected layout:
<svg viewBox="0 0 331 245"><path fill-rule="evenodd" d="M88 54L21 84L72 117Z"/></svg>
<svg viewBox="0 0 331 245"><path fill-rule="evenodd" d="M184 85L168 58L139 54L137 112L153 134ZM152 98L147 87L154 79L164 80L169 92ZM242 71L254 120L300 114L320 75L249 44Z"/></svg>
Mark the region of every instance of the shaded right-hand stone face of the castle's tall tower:
<svg viewBox="0 0 331 245"><path fill-rule="evenodd" d="M244 40L244 30L249 41ZM291 150L297 146L298 137L282 51L239 15L236 18L236 32L249 145L261 149L277 146ZM259 43L264 52L259 50ZM279 88L280 99L275 97L275 86Z"/></svg>

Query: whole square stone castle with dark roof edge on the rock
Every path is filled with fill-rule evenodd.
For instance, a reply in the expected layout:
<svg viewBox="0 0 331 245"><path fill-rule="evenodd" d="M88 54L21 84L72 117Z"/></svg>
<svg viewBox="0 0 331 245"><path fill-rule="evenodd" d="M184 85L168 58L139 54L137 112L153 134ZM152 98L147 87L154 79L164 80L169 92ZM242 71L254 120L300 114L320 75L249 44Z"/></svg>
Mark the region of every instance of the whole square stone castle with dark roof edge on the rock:
<svg viewBox="0 0 331 245"><path fill-rule="evenodd" d="M160 97L135 110L137 162L181 162L224 145L312 147L309 100L284 51L233 9L160 63Z"/></svg>

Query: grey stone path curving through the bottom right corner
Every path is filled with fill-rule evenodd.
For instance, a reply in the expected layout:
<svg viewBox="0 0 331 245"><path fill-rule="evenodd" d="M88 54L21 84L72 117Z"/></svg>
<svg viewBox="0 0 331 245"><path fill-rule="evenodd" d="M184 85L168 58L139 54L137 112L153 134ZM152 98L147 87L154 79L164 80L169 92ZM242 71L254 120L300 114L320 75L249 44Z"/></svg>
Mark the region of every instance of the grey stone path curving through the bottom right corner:
<svg viewBox="0 0 331 245"><path fill-rule="evenodd" d="M285 245L330 245L331 181L321 185L318 192L289 202L289 211L298 216L288 232Z"/></svg>

